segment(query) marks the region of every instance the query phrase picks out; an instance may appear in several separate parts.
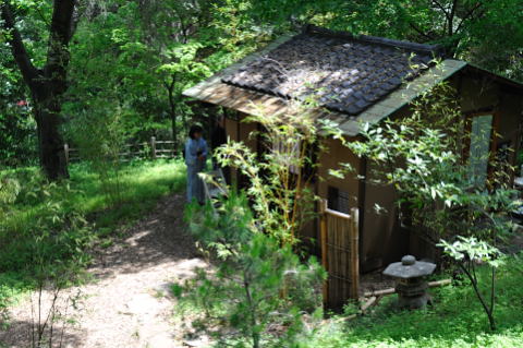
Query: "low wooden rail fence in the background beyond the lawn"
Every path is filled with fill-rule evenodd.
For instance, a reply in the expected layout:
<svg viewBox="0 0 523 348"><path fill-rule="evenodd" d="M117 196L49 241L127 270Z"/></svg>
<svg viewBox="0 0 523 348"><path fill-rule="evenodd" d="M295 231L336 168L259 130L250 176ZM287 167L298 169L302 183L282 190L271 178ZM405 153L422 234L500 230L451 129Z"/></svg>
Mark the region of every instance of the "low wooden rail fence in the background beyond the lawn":
<svg viewBox="0 0 523 348"><path fill-rule="evenodd" d="M65 144L63 151L68 164L81 160L77 148L72 148L69 144ZM134 158L173 158L178 155L178 148L174 148L173 141L158 141L155 136L151 136L148 142L123 145L122 151L118 155L122 161L129 161Z"/></svg>

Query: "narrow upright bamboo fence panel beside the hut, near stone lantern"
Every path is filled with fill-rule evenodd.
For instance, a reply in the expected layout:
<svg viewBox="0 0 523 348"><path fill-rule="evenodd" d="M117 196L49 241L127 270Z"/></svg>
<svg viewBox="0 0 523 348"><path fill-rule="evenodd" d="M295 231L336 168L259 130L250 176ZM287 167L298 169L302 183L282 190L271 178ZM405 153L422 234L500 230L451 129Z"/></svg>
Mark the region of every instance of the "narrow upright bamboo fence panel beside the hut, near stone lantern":
<svg viewBox="0 0 523 348"><path fill-rule="evenodd" d="M358 298L358 211L351 214L332 211L321 201L321 263L328 273L324 285L324 302L341 308L349 299Z"/></svg>

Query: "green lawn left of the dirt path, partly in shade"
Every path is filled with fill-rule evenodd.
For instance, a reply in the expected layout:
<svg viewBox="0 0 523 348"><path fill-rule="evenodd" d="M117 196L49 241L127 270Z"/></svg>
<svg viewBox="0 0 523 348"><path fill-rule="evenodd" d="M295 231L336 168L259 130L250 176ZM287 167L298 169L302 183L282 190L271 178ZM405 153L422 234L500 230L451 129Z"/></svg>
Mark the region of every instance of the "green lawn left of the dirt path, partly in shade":
<svg viewBox="0 0 523 348"><path fill-rule="evenodd" d="M49 185L35 167L0 171L0 178L20 183L16 200L3 211L0 205L0 312L34 286L40 260L85 264L93 243L109 247L115 230L185 185L181 159L122 167L118 202L105 194L107 185L87 165L72 165L70 175L70 180Z"/></svg>

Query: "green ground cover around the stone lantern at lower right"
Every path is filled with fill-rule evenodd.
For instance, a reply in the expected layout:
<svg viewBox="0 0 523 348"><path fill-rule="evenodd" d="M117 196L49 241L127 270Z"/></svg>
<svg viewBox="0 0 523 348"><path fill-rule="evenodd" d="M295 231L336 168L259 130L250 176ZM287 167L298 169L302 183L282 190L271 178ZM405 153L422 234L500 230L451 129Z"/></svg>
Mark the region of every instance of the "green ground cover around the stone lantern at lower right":
<svg viewBox="0 0 523 348"><path fill-rule="evenodd" d="M482 269L487 279L488 269ZM510 257L498 272L495 316L488 321L465 280L431 289L435 303L418 311L397 311L396 296L386 297L370 315L344 322L342 317L323 326L311 347L523 347L523 262Z"/></svg>

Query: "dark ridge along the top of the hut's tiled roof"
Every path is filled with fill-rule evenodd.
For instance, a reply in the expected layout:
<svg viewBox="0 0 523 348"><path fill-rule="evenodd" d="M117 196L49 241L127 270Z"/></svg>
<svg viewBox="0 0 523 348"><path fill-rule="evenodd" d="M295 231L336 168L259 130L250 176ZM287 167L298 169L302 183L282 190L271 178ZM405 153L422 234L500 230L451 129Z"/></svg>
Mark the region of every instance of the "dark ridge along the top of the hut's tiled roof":
<svg viewBox="0 0 523 348"><path fill-rule="evenodd" d="M381 46L400 47L400 48L405 48L405 49L410 49L417 52L433 53L434 56L445 57L445 49L441 45L418 44L418 43L398 40L398 39L391 39L391 38L379 37L379 36L370 36L370 35L355 35L350 32L327 29L320 26L316 26L314 24L305 25L303 28L303 33L319 34L319 35L339 37L339 38L348 38L348 39L353 39L358 41L377 44Z"/></svg>

